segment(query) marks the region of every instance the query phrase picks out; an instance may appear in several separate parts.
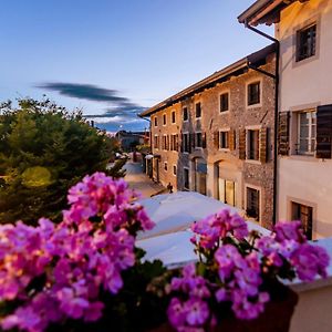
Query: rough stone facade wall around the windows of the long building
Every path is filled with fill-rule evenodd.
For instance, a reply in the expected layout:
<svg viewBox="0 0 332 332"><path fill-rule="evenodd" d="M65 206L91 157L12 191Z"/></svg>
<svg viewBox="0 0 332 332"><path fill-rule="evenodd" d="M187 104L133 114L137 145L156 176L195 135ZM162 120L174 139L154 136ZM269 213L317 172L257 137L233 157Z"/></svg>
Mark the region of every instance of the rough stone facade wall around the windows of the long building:
<svg viewBox="0 0 332 332"><path fill-rule="evenodd" d="M261 69L274 73L274 61L269 60ZM258 106L247 106L247 84L261 82L261 103ZM219 112L219 96L229 92L229 111ZM201 104L201 118L196 120L195 104ZM183 120L183 110L188 108L189 118ZM172 112L176 114L175 124L172 123ZM167 124L163 125L166 114ZM155 126L154 118L158 118ZM240 159L240 133L247 128L267 128L267 162ZM230 129L235 136L230 149L216 146L216 133ZM184 133L201 131L206 135L205 148L193 148L190 154L178 148L177 152L162 148L163 135L177 134L178 139ZM159 148L154 147L154 136L159 135ZM247 135L247 134L245 134ZM261 134L262 135L262 134ZM257 71L232 76L230 80L183 100L170 107L152 115L153 153L159 155L159 180L163 185L170 183L175 189L184 189L184 167L189 168L190 189L195 190L195 159L203 158L207 163L207 195L218 199L218 169L220 174L237 184L236 206L246 209L246 186L260 190L260 218L262 226L271 227L273 203L273 135L274 135L274 82ZM247 136L245 136L247 137ZM180 145L179 141L179 145ZM245 142L246 143L246 142ZM248 142L247 142L248 143ZM167 162L167 170L164 163ZM173 165L177 166L177 175L173 175ZM218 168L218 166L220 166Z"/></svg>

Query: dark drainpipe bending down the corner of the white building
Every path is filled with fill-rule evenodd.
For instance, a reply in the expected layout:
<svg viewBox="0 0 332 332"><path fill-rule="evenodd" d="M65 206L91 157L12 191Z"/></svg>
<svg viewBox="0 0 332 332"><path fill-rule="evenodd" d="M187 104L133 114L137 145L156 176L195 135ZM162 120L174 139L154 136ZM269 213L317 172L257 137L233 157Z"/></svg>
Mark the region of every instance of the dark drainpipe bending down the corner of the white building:
<svg viewBox="0 0 332 332"><path fill-rule="evenodd" d="M267 38L268 40L274 42L276 44L276 75L274 77L274 149L273 149L273 217L272 222L276 225L277 222L277 177L278 177L278 116L279 116L279 61L280 61L280 42L278 39L258 30L257 28L251 27L247 21L245 22L245 27L249 30L258 33L259 35ZM269 75L270 76L270 75Z"/></svg>

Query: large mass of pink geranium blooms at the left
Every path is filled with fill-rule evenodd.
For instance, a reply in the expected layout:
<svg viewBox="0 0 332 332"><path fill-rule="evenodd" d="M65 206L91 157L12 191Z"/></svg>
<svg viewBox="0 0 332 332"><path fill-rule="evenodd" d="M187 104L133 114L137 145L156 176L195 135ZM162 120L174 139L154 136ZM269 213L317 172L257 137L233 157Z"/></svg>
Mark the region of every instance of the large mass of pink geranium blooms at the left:
<svg viewBox="0 0 332 332"><path fill-rule="evenodd" d="M0 321L3 330L37 332L102 317L100 292L122 289L122 271L135 263L137 231L154 226L133 197L123 180L96 173L70 189L60 225L0 226L0 301L20 303Z"/></svg>

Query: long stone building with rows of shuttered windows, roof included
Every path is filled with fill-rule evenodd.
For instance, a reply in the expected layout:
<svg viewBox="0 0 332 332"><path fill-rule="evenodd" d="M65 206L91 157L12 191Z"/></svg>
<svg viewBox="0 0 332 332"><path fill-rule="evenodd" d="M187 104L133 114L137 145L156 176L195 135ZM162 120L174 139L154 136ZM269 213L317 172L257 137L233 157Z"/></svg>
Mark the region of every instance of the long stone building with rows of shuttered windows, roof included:
<svg viewBox="0 0 332 332"><path fill-rule="evenodd" d="M272 44L141 114L151 117L154 179L220 199L270 228L274 61Z"/></svg>

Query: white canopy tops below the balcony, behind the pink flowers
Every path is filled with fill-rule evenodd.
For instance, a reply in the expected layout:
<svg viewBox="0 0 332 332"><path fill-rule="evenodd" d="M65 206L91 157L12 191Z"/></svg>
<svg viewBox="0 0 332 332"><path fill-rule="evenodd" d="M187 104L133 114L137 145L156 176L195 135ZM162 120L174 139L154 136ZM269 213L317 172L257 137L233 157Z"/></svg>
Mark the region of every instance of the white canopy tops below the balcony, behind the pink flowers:
<svg viewBox="0 0 332 332"><path fill-rule="evenodd" d="M156 226L138 235L137 247L146 251L145 260L160 259L168 268L175 268L196 261L194 246L190 242L193 222L221 209L231 214L239 209L211 197L195 191L177 191L139 200ZM249 229L263 235L269 231L258 224L247 221Z"/></svg>

